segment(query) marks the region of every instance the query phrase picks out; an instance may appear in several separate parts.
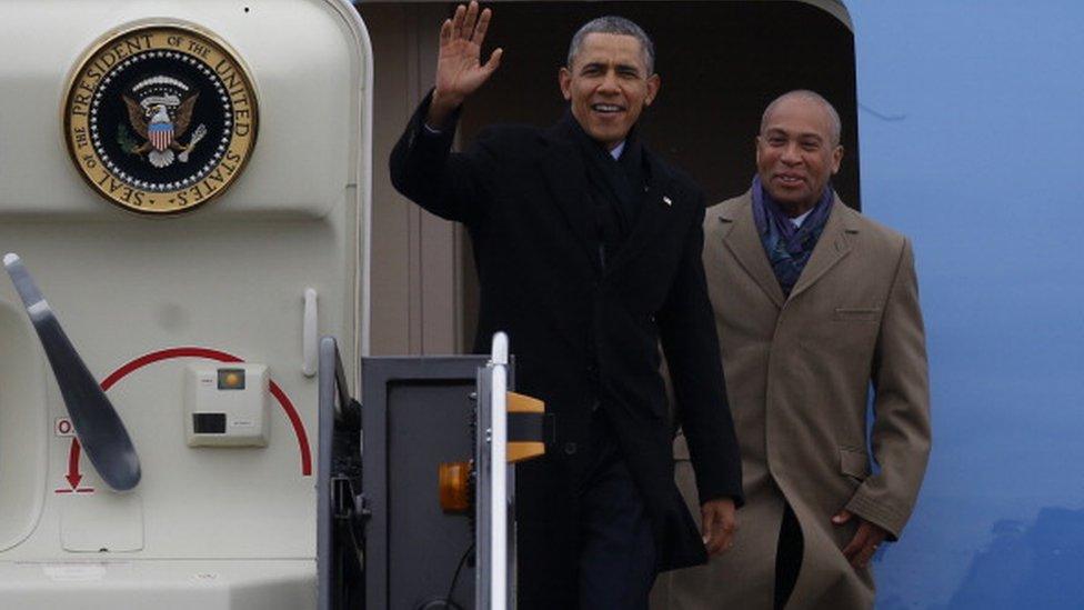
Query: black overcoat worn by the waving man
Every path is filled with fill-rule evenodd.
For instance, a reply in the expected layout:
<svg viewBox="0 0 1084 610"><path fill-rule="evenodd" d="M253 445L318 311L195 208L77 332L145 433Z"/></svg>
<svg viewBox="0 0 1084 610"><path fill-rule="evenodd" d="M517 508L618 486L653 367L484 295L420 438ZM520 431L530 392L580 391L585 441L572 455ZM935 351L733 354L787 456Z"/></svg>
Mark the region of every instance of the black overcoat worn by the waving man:
<svg viewBox="0 0 1084 610"><path fill-rule="evenodd" d="M475 351L488 352L493 333L505 331L516 390L544 400L556 420L545 458L516 469L521 572L574 569L572 484L588 466L594 408L604 409L643 492L659 568L706 561L674 486L674 422L659 352L661 343L701 501L741 502L701 261L700 190L645 148L650 178L639 220L603 268L571 116L549 130L486 128L458 153L450 152L454 128L425 131L428 103L392 152L392 182L430 212L466 226L481 284Z"/></svg>

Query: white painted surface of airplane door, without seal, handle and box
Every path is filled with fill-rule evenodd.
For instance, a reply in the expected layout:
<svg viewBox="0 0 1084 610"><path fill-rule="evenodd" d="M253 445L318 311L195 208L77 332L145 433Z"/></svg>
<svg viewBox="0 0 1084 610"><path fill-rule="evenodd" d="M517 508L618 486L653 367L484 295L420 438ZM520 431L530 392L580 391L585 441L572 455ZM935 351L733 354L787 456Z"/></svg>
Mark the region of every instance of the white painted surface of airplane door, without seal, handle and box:
<svg viewBox="0 0 1084 610"><path fill-rule="evenodd" d="M244 173L172 218L102 200L62 139L78 58L147 18L217 34L259 96ZM190 448L183 371L214 362L147 364L107 391L143 470L138 488L113 494L86 456L71 459L73 439L54 433L63 403L18 296L0 281L0 608L314 607L315 477L302 472L302 447L315 456L317 384L298 366L298 296L321 293L318 331L340 339L354 378L368 349L360 281L371 192L371 49L360 20L342 0L8 0L0 50L12 58L0 64L0 244L22 257L91 372L103 380L169 348L219 350L267 364L301 428L299 440L272 400L268 447ZM43 568L87 551L103 572Z"/></svg>

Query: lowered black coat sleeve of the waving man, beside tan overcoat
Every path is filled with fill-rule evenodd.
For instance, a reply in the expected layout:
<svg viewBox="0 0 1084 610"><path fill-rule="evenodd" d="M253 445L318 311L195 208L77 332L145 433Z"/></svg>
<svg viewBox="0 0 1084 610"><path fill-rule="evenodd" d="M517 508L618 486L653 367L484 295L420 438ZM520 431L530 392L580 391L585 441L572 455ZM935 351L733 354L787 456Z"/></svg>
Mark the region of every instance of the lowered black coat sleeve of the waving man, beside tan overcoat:
<svg viewBox="0 0 1084 610"><path fill-rule="evenodd" d="M697 200L699 213L685 236L678 276L658 316L660 339L700 502L732 498L742 506L742 464L701 252L702 203Z"/></svg>

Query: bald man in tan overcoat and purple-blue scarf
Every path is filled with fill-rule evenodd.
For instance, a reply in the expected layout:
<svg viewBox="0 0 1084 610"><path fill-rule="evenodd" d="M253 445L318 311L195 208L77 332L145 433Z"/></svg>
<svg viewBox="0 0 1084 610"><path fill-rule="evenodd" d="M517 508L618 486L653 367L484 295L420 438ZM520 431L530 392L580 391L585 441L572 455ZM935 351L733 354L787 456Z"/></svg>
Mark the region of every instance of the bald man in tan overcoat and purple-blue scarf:
<svg viewBox="0 0 1084 610"><path fill-rule="evenodd" d="M930 452L914 257L834 193L842 158L832 106L786 93L764 112L750 192L707 210L747 503L731 552L659 579L658 610L871 608L870 559L911 516ZM681 437L675 454L695 506Z"/></svg>

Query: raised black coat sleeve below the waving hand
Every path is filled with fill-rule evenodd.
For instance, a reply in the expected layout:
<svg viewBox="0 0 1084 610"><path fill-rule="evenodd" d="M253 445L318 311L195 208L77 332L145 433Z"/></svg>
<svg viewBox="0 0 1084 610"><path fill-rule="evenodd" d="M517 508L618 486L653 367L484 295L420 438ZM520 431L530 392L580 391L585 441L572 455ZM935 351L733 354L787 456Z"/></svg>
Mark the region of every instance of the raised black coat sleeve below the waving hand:
<svg viewBox="0 0 1084 610"><path fill-rule="evenodd" d="M489 153L489 138L480 134L468 153L451 152L459 110L439 133L433 133L425 127L432 97L430 91L392 149L391 182L425 210L446 220L471 223L482 213L483 178L492 171L486 167L486 160L493 157Z"/></svg>

